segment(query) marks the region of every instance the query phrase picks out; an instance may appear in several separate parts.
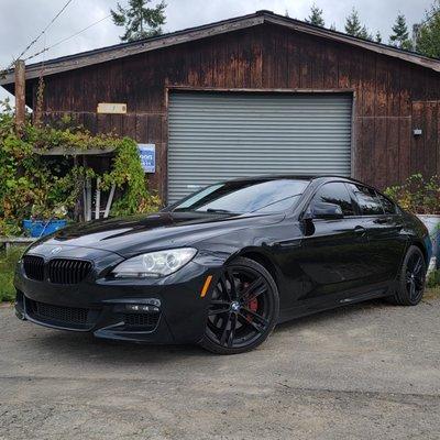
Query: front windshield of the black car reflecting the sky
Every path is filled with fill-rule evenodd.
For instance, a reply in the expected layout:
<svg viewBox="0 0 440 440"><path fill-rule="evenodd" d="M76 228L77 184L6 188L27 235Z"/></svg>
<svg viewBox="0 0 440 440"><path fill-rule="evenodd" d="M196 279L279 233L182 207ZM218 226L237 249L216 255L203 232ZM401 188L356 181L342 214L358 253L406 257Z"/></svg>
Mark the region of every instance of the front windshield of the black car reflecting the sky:
<svg viewBox="0 0 440 440"><path fill-rule="evenodd" d="M301 179L240 180L208 186L174 206L174 211L277 212L293 207L309 184Z"/></svg>

